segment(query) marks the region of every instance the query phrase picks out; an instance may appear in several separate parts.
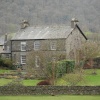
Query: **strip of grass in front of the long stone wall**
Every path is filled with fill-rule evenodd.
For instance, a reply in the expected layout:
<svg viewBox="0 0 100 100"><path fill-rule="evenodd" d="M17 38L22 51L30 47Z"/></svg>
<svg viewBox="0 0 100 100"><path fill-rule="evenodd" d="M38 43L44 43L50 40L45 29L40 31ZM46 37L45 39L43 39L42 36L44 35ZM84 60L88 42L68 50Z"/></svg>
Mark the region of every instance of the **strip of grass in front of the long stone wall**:
<svg viewBox="0 0 100 100"><path fill-rule="evenodd" d="M89 95L0 96L0 100L100 100L100 96L89 96Z"/></svg>

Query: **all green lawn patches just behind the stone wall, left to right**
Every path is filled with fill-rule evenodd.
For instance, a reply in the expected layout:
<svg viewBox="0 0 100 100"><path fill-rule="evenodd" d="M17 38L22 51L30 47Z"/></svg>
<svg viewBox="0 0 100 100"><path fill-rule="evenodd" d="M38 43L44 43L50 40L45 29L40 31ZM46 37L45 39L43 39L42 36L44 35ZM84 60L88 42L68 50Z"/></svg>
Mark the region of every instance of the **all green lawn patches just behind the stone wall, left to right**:
<svg viewBox="0 0 100 100"><path fill-rule="evenodd" d="M7 70L8 71L8 70ZM4 70L1 73L5 72ZM80 86L100 86L100 69L97 69L95 72L96 75L91 74L93 70L88 69L84 70L83 75L84 79L78 85ZM6 85L11 82L11 79L0 78L0 86ZM36 84L41 80L22 80L24 86L36 86ZM68 85L68 82L64 81L62 78L58 79L57 85Z"/></svg>

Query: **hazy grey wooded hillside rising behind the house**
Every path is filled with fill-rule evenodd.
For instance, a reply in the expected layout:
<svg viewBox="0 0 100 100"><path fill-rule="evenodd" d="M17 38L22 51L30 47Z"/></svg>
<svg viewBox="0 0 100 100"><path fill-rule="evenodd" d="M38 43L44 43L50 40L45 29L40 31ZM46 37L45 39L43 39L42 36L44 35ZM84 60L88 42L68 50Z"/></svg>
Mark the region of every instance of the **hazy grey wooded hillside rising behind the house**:
<svg viewBox="0 0 100 100"><path fill-rule="evenodd" d="M76 17L84 31L100 32L100 0L0 0L0 34L30 25L70 25Z"/></svg>

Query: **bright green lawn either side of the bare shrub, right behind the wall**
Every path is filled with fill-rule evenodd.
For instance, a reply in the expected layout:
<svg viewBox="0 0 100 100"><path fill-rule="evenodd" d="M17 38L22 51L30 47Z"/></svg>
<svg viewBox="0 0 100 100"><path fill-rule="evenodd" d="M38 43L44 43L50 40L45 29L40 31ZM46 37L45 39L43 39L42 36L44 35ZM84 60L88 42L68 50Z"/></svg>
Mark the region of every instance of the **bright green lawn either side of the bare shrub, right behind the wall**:
<svg viewBox="0 0 100 100"><path fill-rule="evenodd" d="M83 80L77 84L79 86L100 86L100 69L96 69L96 75L93 75L93 69L87 69L83 72ZM67 75L66 75L67 76ZM63 78L58 79L57 85L69 85Z"/></svg>

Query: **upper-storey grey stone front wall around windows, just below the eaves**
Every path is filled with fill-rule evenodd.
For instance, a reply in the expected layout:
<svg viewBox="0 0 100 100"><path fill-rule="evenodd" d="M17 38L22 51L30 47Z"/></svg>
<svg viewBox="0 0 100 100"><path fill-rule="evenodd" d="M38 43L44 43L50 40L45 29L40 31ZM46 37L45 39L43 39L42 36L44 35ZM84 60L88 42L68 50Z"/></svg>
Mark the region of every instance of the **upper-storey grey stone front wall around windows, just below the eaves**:
<svg viewBox="0 0 100 100"><path fill-rule="evenodd" d="M65 51L65 39L56 39L56 40L37 40L41 42L40 51L43 50L51 50L50 43L52 41L57 41L57 51ZM19 41L12 41L12 51L13 52L20 52L21 51L21 42L26 42L26 51L34 50L34 42L35 40L19 40Z"/></svg>

